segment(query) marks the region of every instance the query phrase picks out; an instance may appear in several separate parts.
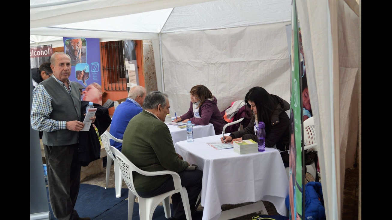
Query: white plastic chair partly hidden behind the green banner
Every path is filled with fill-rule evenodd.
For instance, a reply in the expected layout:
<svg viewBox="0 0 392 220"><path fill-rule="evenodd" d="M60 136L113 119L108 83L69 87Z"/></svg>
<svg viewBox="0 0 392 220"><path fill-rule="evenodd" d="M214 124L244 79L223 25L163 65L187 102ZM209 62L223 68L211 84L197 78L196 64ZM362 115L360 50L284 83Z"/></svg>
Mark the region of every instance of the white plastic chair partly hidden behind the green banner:
<svg viewBox="0 0 392 220"><path fill-rule="evenodd" d="M314 129L313 117L310 117L303 122L303 139L303 143L305 144L305 150L313 148L313 151L317 151L316 129ZM312 175L315 180L316 175L319 175L316 166L316 163L312 163L306 166L307 172L310 173L310 175Z"/></svg>

